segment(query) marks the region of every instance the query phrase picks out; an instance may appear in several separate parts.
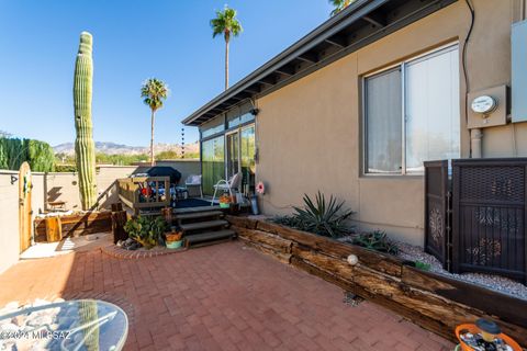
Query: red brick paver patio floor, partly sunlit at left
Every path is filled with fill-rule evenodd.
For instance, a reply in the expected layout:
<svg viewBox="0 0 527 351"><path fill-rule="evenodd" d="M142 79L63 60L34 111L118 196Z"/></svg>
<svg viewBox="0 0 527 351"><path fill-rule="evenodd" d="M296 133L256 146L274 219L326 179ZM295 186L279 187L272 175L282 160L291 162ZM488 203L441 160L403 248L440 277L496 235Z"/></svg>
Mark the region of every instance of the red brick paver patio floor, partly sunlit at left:
<svg viewBox="0 0 527 351"><path fill-rule="evenodd" d="M451 350L452 344L239 242L139 260L100 249L20 262L0 306L96 297L128 313L125 350Z"/></svg>

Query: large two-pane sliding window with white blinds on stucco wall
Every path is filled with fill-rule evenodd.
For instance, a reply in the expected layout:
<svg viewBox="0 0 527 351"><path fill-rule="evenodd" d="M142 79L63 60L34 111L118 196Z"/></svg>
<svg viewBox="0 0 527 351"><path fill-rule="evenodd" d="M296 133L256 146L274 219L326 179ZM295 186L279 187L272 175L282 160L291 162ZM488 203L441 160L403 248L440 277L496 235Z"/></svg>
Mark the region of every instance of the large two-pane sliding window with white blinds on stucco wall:
<svg viewBox="0 0 527 351"><path fill-rule="evenodd" d="M365 79L365 171L408 174L460 156L459 53L451 46Z"/></svg>

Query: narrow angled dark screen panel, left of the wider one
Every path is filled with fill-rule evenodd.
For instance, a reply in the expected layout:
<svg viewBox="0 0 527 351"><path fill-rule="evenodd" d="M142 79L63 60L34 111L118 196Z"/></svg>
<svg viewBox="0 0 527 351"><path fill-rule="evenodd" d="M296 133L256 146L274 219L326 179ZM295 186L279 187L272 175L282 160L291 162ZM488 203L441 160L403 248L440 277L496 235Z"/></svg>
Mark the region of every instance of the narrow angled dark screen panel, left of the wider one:
<svg viewBox="0 0 527 351"><path fill-rule="evenodd" d="M448 161L425 165L425 251L450 269L450 191Z"/></svg>

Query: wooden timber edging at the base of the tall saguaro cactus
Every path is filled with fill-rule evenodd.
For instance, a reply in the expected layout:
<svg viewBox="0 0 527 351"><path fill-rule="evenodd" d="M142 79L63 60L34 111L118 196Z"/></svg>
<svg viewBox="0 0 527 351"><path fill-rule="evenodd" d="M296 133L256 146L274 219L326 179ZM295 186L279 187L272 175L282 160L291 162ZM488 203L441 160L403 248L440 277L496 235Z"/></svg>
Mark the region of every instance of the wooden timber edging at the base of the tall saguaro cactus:
<svg viewBox="0 0 527 351"><path fill-rule="evenodd" d="M46 218L35 218L35 241L46 241ZM111 212L87 212L60 216L61 237L78 237L87 234L112 230Z"/></svg>

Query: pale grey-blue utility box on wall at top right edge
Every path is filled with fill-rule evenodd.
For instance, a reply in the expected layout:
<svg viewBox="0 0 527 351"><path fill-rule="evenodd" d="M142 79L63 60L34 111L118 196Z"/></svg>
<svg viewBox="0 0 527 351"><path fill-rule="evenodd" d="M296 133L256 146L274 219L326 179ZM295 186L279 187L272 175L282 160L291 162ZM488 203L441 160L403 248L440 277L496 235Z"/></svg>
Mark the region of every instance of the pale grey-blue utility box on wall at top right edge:
<svg viewBox="0 0 527 351"><path fill-rule="evenodd" d="M512 120L527 121L527 21L513 24L512 35Z"/></svg>

